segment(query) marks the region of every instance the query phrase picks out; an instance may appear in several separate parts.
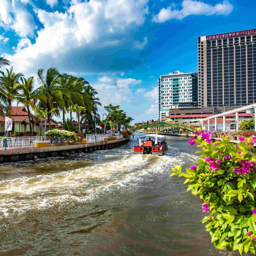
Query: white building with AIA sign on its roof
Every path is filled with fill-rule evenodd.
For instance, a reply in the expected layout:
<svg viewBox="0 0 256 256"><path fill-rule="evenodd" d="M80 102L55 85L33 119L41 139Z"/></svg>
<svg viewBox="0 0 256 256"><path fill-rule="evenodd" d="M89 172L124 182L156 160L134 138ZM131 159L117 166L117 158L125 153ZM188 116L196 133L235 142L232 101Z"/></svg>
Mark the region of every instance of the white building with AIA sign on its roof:
<svg viewBox="0 0 256 256"><path fill-rule="evenodd" d="M172 108L191 108L198 106L197 73L182 74L178 71L160 76L159 86L159 120L170 116Z"/></svg>

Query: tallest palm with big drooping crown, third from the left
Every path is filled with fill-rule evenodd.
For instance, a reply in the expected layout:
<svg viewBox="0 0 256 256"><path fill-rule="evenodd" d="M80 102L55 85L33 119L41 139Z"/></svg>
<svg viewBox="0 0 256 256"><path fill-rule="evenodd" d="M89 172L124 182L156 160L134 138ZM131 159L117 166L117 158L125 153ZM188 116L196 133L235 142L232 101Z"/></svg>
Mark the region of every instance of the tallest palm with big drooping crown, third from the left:
<svg viewBox="0 0 256 256"><path fill-rule="evenodd" d="M63 107L65 105L63 93L62 90L60 90L60 85L58 82L59 77L60 73L56 68L49 68L46 72L46 76L44 76L43 69L39 69L37 73L37 80L40 86L34 91L34 94L46 96L45 100L39 101L38 107L48 111L47 118L49 130L51 129L50 120L52 118L52 112L50 111L53 110L54 107ZM56 108L53 113L56 116L60 116L58 108Z"/></svg>

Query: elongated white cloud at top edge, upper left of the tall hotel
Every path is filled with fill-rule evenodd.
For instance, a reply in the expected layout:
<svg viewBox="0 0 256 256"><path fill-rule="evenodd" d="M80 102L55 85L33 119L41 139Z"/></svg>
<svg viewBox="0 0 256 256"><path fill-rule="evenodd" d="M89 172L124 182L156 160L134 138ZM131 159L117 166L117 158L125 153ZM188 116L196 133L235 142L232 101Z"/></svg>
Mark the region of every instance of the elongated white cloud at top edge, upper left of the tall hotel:
<svg viewBox="0 0 256 256"><path fill-rule="evenodd" d="M173 19L182 20L189 15L228 15L233 10L233 5L227 0L215 6L196 0L184 0L181 6L180 10L176 9L175 4L162 8L158 14L153 16L152 21L163 23Z"/></svg>

